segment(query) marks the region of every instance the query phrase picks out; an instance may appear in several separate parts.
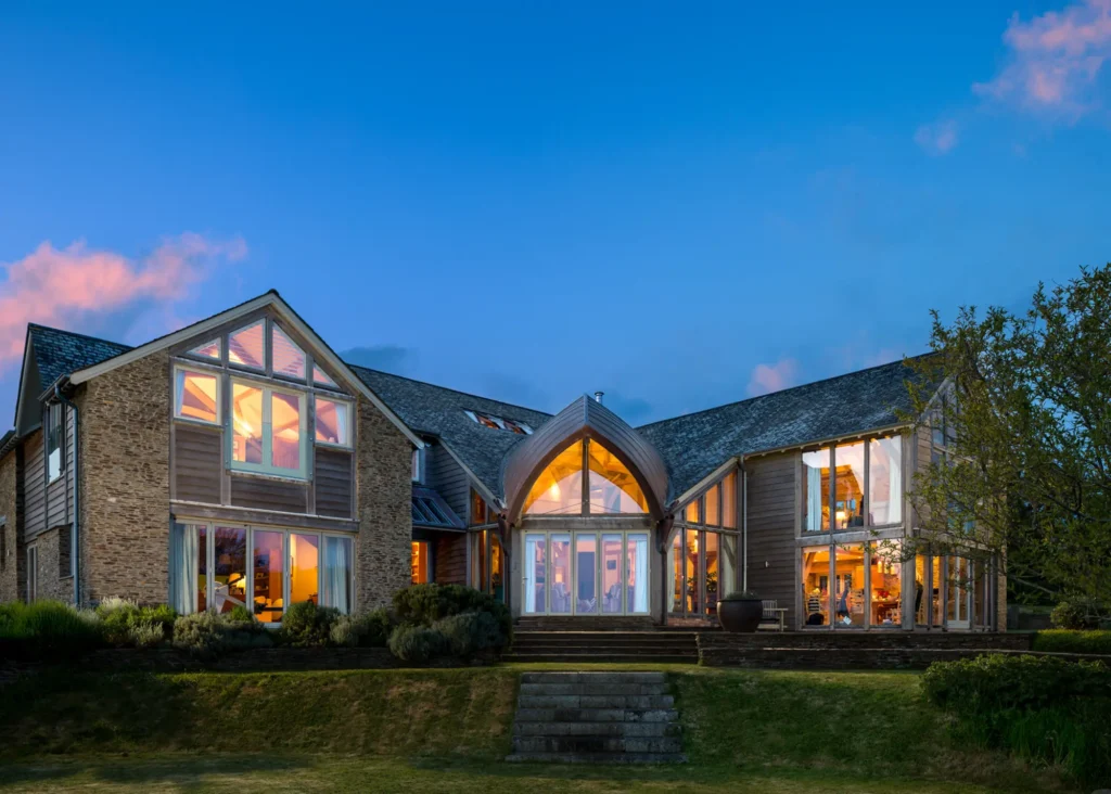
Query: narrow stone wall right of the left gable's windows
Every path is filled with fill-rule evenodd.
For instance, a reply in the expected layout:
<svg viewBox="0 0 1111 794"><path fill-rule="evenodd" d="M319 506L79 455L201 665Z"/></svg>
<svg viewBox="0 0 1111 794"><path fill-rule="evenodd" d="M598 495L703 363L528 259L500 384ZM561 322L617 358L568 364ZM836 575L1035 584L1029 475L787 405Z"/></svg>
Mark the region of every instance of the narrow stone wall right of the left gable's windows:
<svg viewBox="0 0 1111 794"><path fill-rule="evenodd" d="M364 398L356 410L356 610L363 612L386 606L411 581L412 442Z"/></svg>

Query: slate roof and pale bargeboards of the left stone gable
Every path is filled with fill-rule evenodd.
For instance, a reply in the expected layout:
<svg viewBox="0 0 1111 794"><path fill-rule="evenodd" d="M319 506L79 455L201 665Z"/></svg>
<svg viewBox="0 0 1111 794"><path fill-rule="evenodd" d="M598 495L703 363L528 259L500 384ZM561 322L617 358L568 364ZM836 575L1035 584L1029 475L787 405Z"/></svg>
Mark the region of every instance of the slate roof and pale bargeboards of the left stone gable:
<svg viewBox="0 0 1111 794"><path fill-rule="evenodd" d="M69 375L70 381L74 384L83 383L92 378L102 375L106 372L111 372L118 366L123 366L132 361L137 361L160 350L172 348L179 342L183 342L193 336L202 336L206 332L214 330L224 323L234 321L238 316L266 306L270 306L276 314L278 314L282 320L289 323L291 328L296 329L298 333L307 339L312 344L313 354L321 361L329 364L331 369L337 372L337 374L339 374L351 385L352 389L354 389L356 392L362 394L376 408L378 408L378 410L381 411L382 414L390 420L390 422L398 430L400 430L410 442L418 448L424 445L424 442L422 442L420 438L417 436L406 425L406 423L396 413L393 413L393 411L391 411L389 406L381 401L381 399L379 399L377 394L374 394L372 389L363 383L363 381L351 371L348 364L336 354L336 351L333 351L312 329L312 326L304 322L304 320L302 320L301 316L294 312L284 300L282 300L281 295L279 295L276 290L270 290L258 298L252 298L249 301L240 303L238 306L232 306L227 311L213 314L206 320L194 322L179 331L168 333L164 336L159 336L158 339L151 340L150 342L141 344L137 348L129 348L128 345L107 342L106 340L83 336L82 334L76 334L69 331L46 329L41 325L34 326L49 332L47 334L47 341L49 350L52 352L52 355L46 360L50 368L49 371L43 371L40 366L40 380L42 386L49 386L61 375ZM28 339L30 339L30 333L28 334ZM37 359L40 355L37 345L34 355ZM26 351L23 369L26 373Z"/></svg>

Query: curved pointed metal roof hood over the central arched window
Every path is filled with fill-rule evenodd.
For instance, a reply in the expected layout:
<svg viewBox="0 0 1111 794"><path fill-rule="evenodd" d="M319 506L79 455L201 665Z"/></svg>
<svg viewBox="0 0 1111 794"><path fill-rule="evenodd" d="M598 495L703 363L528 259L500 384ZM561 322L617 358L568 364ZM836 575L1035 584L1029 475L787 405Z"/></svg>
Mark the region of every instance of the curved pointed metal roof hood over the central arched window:
<svg viewBox="0 0 1111 794"><path fill-rule="evenodd" d="M649 513L662 515L668 497L668 469L644 436L597 400L583 394L548 420L507 456L502 483L509 519L520 514L532 482L568 445L598 439L632 473L648 497Z"/></svg>

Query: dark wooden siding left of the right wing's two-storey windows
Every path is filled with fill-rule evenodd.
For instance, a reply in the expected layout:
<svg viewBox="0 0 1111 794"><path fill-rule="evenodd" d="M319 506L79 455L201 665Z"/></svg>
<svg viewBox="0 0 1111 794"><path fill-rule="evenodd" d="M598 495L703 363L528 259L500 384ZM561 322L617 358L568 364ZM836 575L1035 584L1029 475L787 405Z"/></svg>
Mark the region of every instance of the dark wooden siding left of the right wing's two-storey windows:
<svg viewBox="0 0 1111 794"><path fill-rule="evenodd" d="M794 536L799 454L758 458L744 465L749 474L749 590L760 593L762 599L778 601L788 611L787 625L794 627L798 625L799 552Z"/></svg>

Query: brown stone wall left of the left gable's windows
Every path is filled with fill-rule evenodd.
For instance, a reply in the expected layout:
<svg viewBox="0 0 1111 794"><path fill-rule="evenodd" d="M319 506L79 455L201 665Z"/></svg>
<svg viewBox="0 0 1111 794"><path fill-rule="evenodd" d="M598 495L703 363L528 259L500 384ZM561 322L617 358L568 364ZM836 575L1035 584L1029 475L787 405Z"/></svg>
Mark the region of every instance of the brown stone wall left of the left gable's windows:
<svg viewBox="0 0 1111 794"><path fill-rule="evenodd" d="M93 378L74 399L83 603L169 595L170 400L164 351Z"/></svg>

